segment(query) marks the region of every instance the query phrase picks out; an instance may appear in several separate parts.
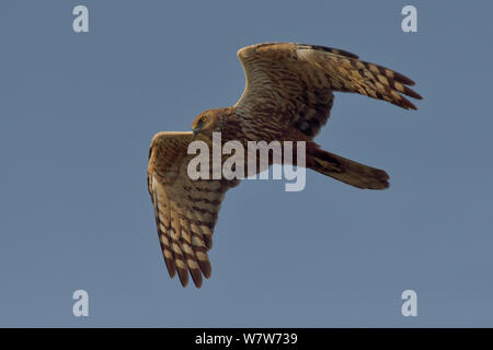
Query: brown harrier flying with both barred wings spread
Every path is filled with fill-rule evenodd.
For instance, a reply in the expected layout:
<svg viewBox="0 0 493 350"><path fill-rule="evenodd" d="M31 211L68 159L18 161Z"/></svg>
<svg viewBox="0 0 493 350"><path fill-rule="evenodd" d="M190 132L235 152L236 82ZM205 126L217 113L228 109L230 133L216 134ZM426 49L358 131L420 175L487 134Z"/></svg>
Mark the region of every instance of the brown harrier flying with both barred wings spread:
<svg viewBox="0 0 493 350"><path fill-rule="evenodd" d="M239 179L197 179L187 175L188 143L221 140L306 141L306 167L358 188L383 189L389 176L322 150L313 137L330 116L334 91L385 100L405 109L416 107L402 94L422 98L406 85L414 82L388 68L329 47L268 43L238 51L246 77L241 98L232 107L199 114L193 132L159 132L150 145L148 186L168 272L177 271L183 287L188 271L195 285L210 277L207 252L225 192Z"/></svg>

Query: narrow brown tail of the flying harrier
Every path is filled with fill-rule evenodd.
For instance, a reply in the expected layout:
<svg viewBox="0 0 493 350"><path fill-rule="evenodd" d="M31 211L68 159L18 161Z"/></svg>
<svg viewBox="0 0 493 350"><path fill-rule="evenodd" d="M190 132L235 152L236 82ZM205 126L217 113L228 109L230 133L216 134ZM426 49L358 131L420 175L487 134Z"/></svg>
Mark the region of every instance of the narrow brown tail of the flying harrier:
<svg viewBox="0 0 493 350"><path fill-rule="evenodd" d="M385 171L326 152L314 142L307 144L307 167L357 188L389 187Z"/></svg>

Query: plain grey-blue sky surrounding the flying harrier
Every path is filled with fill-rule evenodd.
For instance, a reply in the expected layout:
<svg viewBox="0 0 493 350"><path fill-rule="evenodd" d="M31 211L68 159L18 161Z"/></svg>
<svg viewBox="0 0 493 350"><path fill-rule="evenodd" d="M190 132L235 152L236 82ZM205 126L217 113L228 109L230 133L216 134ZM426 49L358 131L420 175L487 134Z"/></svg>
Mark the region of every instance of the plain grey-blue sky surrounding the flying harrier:
<svg viewBox="0 0 493 350"><path fill-rule="evenodd" d="M90 33L72 31L85 4ZM417 8L417 33L401 9ZM493 326L489 1L0 2L0 326ZM385 168L362 191L230 190L203 288L171 280L152 136L244 86L239 48L332 46L416 81L420 110L336 94L317 141ZM72 316L74 290L90 316ZM401 293L417 293L403 317Z"/></svg>

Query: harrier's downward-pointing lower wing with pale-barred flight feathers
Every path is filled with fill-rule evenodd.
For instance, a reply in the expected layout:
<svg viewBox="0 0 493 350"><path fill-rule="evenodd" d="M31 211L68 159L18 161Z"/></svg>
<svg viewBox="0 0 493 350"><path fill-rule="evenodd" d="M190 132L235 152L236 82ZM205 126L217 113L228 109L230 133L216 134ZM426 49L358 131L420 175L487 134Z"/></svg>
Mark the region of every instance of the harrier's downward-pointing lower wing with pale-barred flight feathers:
<svg viewBox="0 0 493 350"><path fill-rule="evenodd" d="M171 277L183 287L188 271L195 285L211 273L207 250L225 192L239 180L196 179L187 174L192 132L159 132L151 142L147 182L154 205L162 254ZM207 142L207 140L205 140Z"/></svg>

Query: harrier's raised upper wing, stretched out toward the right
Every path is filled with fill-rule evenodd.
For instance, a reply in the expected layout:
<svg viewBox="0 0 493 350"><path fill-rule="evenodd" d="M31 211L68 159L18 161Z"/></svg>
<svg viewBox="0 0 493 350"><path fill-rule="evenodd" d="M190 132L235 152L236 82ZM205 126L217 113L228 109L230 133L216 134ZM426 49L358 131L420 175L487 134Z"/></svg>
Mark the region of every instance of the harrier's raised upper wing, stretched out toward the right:
<svg viewBox="0 0 493 350"><path fill-rule="evenodd" d="M266 43L238 51L246 85L236 104L241 113L272 113L309 137L326 122L333 91L355 92L402 108L416 107L402 94L422 98L406 85L414 82L358 56L330 47Z"/></svg>

